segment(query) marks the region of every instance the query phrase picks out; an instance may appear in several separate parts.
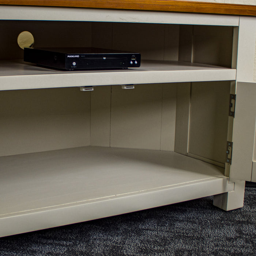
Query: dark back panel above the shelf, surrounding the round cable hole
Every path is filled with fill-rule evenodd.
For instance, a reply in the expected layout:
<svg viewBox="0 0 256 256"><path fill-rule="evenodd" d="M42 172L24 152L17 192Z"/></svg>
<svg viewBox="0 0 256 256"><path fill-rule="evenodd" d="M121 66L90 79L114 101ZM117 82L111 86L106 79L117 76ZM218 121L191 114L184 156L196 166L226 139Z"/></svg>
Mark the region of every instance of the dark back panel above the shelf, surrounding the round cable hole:
<svg viewBox="0 0 256 256"><path fill-rule="evenodd" d="M23 59L17 43L22 31L33 34L35 47L91 46L91 22L1 20L0 59Z"/></svg>

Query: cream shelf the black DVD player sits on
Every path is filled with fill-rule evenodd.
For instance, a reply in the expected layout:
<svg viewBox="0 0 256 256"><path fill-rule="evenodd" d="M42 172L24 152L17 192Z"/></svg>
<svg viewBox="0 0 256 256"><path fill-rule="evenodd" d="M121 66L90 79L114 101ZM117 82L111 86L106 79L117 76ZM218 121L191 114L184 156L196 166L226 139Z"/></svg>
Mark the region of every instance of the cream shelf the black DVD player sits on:
<svg viewBox="0 0 256 256"><path fill-rule="evenodd" d="M140 68L56 71L19 61L0 62L0 90L114 84L236 80L236 69L180 61L143 61Z"/></svg>

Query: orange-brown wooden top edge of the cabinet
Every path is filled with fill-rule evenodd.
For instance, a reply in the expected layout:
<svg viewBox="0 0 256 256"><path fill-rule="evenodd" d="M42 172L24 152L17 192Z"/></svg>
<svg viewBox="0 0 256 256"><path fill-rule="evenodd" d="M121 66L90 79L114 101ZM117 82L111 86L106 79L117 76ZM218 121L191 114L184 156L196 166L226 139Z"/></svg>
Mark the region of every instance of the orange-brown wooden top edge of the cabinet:
<svg viewBox="0 0 256 256"><path fill-rule="evenodd" d="M82 7L256 16L256 5L205 3L185 0L0 0L0 5Z"/></svg>

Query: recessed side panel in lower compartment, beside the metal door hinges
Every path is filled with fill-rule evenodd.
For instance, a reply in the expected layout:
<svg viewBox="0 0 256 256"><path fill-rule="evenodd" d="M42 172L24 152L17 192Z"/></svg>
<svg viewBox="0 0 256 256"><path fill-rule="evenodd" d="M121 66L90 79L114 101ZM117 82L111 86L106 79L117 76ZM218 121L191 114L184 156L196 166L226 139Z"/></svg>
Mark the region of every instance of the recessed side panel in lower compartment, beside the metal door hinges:
<svg viewBox="0 0 256 256"><path fill-rule="evenodd" d="M225 163L230 82L192 83L189 150Z"/></svg>

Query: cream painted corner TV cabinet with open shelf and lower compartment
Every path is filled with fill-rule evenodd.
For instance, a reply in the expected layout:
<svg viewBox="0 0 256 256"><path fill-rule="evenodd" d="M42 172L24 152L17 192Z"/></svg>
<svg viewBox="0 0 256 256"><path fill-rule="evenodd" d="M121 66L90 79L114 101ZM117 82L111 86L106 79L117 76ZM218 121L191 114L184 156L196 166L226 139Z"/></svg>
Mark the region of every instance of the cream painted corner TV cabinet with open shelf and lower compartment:
<svg viewBox="0 0 256 256"><path fill-rule="evenodd" d="M210 195L243 206L256 176L255 18L4 5L0 17L0 236ZM131 50L142 64L37 67L21 31L37 47Z"/></svg>

